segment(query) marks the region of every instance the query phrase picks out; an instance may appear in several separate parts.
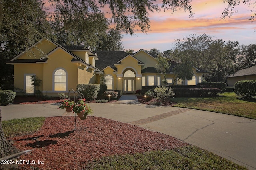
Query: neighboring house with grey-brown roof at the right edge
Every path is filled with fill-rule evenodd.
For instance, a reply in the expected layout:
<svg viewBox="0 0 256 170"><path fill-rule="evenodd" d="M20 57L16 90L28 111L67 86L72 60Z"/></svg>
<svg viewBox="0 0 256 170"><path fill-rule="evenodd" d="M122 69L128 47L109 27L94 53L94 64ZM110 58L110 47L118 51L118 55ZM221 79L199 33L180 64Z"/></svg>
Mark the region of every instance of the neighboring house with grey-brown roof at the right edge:
<svg viewBox="0 0 256 170"><path fill-rule="evenodd" d="M229 76L226 76L227 86L234 86L234 84L241 80L256 80L256 66L239 70Z"/></svg>

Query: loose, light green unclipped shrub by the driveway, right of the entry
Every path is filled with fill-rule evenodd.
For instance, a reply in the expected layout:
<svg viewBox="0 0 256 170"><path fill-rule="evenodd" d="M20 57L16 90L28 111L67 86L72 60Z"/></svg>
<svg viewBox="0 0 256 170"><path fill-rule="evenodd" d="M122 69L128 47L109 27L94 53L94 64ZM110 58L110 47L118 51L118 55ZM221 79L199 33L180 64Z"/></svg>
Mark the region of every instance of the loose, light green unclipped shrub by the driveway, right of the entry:
<svg viewBox="0 0 256 170"><path fill-rule="evenodd" d="M175 95L172 88L164 86L154 88L154 93L156 94L156 100L160 102L168 102L168 100Z"/></svg>

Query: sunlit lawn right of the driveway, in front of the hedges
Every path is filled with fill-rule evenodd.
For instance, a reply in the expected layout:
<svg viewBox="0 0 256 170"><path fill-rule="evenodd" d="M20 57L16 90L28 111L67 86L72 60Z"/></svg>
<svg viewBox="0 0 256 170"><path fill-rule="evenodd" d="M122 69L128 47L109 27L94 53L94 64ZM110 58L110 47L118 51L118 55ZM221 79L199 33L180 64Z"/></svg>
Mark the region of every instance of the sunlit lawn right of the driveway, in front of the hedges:
<svg viewBox="0 0 256 170"><path fill-rule="evenodd" d="M173 98L174 107L213 111L256 119L256 100L241 100L234 92L226 92L217 97L207 98Z"/></svg>

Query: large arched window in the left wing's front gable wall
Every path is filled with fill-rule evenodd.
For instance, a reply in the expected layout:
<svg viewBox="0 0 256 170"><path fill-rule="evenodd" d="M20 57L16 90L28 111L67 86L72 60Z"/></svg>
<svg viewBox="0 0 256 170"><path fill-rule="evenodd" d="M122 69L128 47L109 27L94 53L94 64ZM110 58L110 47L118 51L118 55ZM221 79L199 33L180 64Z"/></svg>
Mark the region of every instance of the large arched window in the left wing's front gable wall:
<svg viewBox="0 0 256 170"><path fill-rule="evenodd" d="M58 69L54 72L54 91L66 91L67 74L63 69Z"/></svg>

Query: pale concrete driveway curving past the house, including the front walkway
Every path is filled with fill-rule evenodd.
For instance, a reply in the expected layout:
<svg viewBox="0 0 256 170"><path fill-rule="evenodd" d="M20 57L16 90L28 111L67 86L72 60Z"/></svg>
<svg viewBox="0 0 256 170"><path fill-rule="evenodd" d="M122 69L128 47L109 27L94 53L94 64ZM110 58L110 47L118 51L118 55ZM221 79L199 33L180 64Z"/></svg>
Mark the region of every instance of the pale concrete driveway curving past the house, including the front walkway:
<svg viewBox="0 0 256 170"><path fill-rule="evenodd" d="M256 120L178 107L149 106L135 95L114 103L90 103L93 116L158 131L256 170ZM58 104L2 106L2 120L74 115Z"/></svg>

